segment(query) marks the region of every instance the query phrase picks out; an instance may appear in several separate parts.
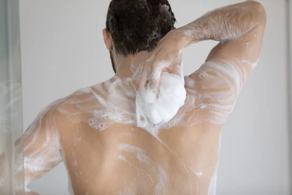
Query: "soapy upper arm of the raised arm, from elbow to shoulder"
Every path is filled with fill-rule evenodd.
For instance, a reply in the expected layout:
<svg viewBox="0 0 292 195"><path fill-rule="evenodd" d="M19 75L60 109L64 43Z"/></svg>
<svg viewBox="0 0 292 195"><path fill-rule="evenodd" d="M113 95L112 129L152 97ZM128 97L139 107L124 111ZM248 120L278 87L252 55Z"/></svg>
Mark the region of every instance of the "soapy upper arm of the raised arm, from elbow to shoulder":
<svg viewBox="0 0 292 195"><path fill-rule="evenodd" d="M189 76L195 81L197 100L218 124L227 119L258 61L266 25L263 7L259 7L258 18L256 26L246 34L215 46L205 63Z"/></svg>

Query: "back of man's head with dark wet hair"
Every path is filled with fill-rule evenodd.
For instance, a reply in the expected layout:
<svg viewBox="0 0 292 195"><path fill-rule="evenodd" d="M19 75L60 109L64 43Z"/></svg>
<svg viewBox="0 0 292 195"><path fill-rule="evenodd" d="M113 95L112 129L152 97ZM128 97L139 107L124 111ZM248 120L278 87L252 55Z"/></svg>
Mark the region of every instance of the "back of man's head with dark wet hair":
<svg viewBox="0 0 292 195"><path fill-rule="evenodd" d="M128 56L154 50L175 21L167 0L112 0L106 28L116 52Z"/></svg>

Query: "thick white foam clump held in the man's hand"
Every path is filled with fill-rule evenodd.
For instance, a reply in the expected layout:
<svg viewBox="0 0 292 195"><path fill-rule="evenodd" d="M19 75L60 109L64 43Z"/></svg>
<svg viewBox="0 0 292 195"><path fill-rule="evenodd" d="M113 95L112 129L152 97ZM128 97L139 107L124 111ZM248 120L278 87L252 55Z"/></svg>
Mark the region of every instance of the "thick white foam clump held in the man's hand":
<svg viewBox="0 0 292 195"><path fill-rule="evenodd" d="M136 94L137 126L145 128L148 123L156 125L168 122L183 106L185 97L184 79L163 72L158 98L149 86Z"/></svg>

